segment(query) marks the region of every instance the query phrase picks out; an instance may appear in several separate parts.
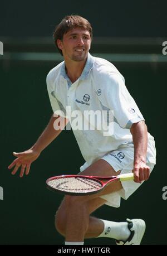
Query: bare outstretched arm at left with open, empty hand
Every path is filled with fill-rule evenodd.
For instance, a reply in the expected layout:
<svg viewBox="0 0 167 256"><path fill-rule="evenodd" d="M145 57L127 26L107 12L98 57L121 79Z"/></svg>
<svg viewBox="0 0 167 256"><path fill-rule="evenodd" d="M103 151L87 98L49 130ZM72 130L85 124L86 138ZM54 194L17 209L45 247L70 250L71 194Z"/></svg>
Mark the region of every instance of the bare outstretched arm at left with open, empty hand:
<svg viewBox="0 0 167 256"><path fill-rule="evenodd" d="M57 125L54 125L55 121L61 122L61 128L57 127ZM17 158L11 163L11 165L8 166L9 169L14 167L12 175L18 171L19 167L21 167L21 172L19 175L20 177L23 177L25 170L26 175L28 175L30 172L31 163L35 161L40 156L40 153L43 151L43 149L45 149L48 144L50 144L58 136L58 134L61 133L62 129L66 126L67 123L68 119L63 117L53 117L52 115L46 129L30 149L21 153L13 152L13 155Z"/></svg>

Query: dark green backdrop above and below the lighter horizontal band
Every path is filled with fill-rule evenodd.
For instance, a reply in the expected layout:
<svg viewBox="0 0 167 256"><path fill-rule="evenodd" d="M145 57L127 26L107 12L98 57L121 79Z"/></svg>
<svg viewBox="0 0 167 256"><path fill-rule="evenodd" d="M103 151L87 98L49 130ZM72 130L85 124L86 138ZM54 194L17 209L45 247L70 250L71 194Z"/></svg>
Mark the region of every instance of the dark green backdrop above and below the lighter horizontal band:
<svg viewBox="0 0 167 256"><path fill-rule="evenodd" d="M23 7L19 1L7 1L3 3L0 35L52 36L53 27L63 16L78 13L91 21L95 36L166 36L163 1L150 4L141 1L136 5L132 1L126 4L104 1L98 8L92 2L87 6L85 1L65 1L62 7L55 1L40 1L27 2ZM14 159L12 152L30 148L51 117L46 75L56 64L12 62L6 67L0 56L0 186L4 190L4 200L0 201L0 244L63 244L64 239L53 224L62 196L48 191L45 181L53 175L77 173L84 163L73 133L63 131L32 164L29 176L22 179L12 176L7 168ZM162 199L162 189L167 186L166 64L114 64L124 75L127 89L155 137L157 164L149 181L129 200L122 200L119 209L104 206L94 215L113 221L143 218L147 226L143 244L166 244L167 200ZM85 244L114 244L114 241L90 239Z"/></svg>

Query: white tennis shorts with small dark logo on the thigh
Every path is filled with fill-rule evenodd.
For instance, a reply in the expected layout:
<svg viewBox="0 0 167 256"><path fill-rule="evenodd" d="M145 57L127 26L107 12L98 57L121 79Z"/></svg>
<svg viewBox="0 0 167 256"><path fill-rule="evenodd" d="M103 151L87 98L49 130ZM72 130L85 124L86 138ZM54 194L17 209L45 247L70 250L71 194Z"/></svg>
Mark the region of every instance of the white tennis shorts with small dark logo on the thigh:
<svg viewBox="0 0 167 256"><path fill-rule="evenodd" d="M129 173L134 168L134 145L131 144L128 147L123 146L115 151L111 151L109 154L105 155L101 159L104 159L114 170L117 172L121 170L120 174ZM156 149L154 140L150 140L148 143L147 161L146 164L150 167L150 173L153 171L156 159ZM88 166L85 165L80 167L80 171L84 171ZM144 181L143 181L144 182ZM105 199L106 205L112 207L120 207L121 197L125 200L133 194L143 183L136 183L134 181L123 181L122 189L111 194L101 196Z"/></svg>

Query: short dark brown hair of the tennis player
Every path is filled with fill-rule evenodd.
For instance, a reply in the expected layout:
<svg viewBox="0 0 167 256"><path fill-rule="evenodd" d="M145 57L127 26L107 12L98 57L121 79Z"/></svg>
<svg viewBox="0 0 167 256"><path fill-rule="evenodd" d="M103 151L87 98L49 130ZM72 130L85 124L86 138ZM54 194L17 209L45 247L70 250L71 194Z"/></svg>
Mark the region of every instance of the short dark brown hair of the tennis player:
<svg viewBox="0 0 167 256"><path fill-rule="evenodd" d="M55 45L57 46L58 51L62 55L62 51L58 48L57 39L62 40L63 35L73 28L81 27L89 31L90 37L92 40L92 27L85 18L78 15L70 15L63 18L63 20L56 26L55 31L53 32L53 38Z"/></svg>

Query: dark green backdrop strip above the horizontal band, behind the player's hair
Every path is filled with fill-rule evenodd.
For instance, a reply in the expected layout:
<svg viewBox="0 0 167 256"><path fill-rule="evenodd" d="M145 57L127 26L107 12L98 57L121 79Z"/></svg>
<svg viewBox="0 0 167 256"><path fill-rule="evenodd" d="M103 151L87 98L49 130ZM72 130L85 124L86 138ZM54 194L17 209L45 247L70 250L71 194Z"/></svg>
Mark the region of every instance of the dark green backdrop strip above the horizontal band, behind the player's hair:
<svg viewBox="0 0 167 256"><path fill-rule="evenodd" d="M48 36L63 16L87 18L94 36L166 36L165 0L1 1L3 36Z"/></svg>

